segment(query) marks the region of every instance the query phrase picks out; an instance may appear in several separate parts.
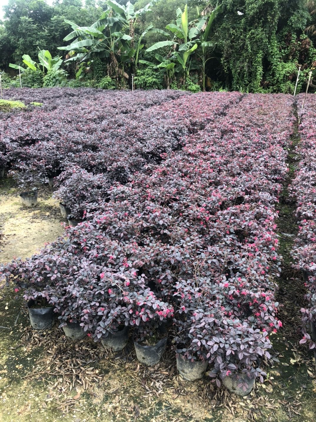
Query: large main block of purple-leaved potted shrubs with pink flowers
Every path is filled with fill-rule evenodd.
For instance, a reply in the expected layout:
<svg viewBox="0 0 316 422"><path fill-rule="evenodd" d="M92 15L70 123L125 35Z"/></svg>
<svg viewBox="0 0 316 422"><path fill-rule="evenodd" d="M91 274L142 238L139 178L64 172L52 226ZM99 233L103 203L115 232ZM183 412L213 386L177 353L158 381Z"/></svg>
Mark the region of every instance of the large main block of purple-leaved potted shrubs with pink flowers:
<svg viewBox="0 0 316 422"><path fill-rule="evenodd" d="M116 351L130 336L150 365L167 344L185 379L201 378L209 365L218 386L232 376L244 391L256 377L263 381L270 334L282 326L275 203L289 171L293 97L93 89L5 95L43 105L3 113L1 166L33 204L34 188L49 179L69 221L41 252L0 268L27 300L33 327L50 326L55 315L66 335L88 335ZM309 109L302 153L312 172L308 119L315 119ZM306 168L303 174L300 197L314 189ZM309 251L315 239L304 239L314 222L304 218L297 250L301 242ZM306 271L316 269L306 256ZM309 280L313 303L316 279Z"/></svg>

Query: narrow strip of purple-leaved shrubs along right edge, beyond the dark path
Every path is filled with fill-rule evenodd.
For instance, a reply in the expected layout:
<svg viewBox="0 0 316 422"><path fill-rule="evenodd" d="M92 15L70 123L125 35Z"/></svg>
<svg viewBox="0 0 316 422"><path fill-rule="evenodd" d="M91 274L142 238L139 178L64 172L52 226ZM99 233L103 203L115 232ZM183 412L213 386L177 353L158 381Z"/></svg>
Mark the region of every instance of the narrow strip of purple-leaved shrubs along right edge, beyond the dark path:
<svg viewBox="0 0 316 422"><path fill-rule="evenodd" d="M302 96L300 96L302 97ZM297 203L296 219L299 227L292 248L295 268L302 271L306 288L306 307L302 308L305 327L311 327L311 336L305 331L300 343L316 346L316 99L308 97L304 110L299 110L298 127L301 138L297 146L300 162L290 193Z"/></svg>

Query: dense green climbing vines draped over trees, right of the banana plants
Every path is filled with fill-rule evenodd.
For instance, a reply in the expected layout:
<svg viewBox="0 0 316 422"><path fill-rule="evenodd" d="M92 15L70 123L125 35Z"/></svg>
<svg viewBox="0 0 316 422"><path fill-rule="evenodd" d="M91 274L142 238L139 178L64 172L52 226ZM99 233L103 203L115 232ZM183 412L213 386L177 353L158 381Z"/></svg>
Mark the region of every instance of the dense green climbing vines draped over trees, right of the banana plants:
<svg viewBox="0 0 316 422"><path fill-rule="evenodd" d="M226 85L244 92L291 93L301 65L302 90L316 60L304 32L311 19L305 1L223 0L222 5L217 75Z"/></svg>

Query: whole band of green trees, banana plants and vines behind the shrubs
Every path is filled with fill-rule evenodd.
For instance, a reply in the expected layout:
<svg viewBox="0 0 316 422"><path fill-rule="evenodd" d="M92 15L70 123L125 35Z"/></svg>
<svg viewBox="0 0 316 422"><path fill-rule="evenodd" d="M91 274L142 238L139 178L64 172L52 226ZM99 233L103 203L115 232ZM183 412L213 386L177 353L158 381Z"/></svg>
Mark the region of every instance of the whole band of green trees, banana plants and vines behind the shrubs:
<svg viewBox="0 0 316 422"><path fill-rule="evenodd" d="M86 0L82 7L81 0L56 0L52 6L45 0L8 0L0 24L0 68L8 71L10 62L25 68L23 57L29 57L36 70L20 69L26 87L126 88L134 73L135 86L142 89L194 91L198 84L291 93L301 66L297 92L305 89L316 65L314 2L191 0L186 24L197 29L189 37L181 20L185 2L149 1L132 1L132 6L126 0ZM62 56L62 70L44 69L40 50L54 59Z"/></svg>

